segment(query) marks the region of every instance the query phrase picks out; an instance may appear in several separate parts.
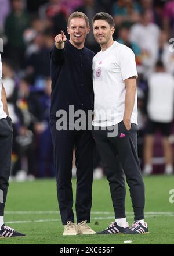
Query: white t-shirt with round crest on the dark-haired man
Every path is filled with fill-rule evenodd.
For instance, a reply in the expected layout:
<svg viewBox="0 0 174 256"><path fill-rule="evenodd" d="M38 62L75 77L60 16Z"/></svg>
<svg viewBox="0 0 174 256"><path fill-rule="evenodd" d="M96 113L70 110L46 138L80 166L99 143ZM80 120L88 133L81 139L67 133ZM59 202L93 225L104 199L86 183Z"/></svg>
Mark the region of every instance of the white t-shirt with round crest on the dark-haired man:
<svg viewBox="0 0 174 256"><path fill-rule="evenodd" d="M95 94L94 126L112 126L121 122L125 111L124 80L136 76L133 51L115 41L106 51L93 58L93 90ZM137 124L137 95L131 116Z"/></svg>

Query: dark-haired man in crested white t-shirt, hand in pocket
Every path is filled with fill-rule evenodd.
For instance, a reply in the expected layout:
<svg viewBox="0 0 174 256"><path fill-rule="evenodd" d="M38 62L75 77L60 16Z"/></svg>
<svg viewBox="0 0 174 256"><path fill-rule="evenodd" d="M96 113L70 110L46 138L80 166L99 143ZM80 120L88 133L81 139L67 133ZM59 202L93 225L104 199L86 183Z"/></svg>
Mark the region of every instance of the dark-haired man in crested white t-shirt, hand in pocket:
<svg viewBox="0 0 174 256"><path fill-rule="evenodd" d="M115 212L115 222L97 234L148 233L144 222L144 183L137 157L135 55L130 48L113 41L114 25L108 13L97 13L93 17L93 33L102 51L93 58L92 133L110 184ZM124 173L135 215L131 227L125 215Z"/></svg>

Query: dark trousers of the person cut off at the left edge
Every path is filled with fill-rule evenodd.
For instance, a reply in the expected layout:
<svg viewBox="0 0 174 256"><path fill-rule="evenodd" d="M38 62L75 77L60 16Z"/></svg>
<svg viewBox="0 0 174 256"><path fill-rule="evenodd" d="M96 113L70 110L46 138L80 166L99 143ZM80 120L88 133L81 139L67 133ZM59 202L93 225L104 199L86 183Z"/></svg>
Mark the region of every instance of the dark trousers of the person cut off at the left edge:
<svg viewBox="0 0 174 256"><path fill-rule="evenodd" d="M8 192L8 180L11 168L12 156L12 121L10 118L0 120L0 216L4 215L6 196Z"/></svg>

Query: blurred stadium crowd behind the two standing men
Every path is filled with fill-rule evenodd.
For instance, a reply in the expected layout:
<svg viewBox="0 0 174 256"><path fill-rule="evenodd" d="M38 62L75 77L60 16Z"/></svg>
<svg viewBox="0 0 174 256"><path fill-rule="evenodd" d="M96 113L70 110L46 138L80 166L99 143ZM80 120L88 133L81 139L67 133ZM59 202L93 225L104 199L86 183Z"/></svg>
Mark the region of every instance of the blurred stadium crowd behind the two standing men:
<svg viewBox="0 0 174 256"><path fill-rule="evenodd" d="M97 12L114 17L114 39L136 56L138 145L144 174L173 173L174 0L0 0L0 6L3 84L14 130L12 177L55 176L49 51L60 30L68 37L67 18L74 10L84 12L91 27ZM92 30L86 47L100 51ZM101 177L97 153L95 169L96 177Z"/></svg>

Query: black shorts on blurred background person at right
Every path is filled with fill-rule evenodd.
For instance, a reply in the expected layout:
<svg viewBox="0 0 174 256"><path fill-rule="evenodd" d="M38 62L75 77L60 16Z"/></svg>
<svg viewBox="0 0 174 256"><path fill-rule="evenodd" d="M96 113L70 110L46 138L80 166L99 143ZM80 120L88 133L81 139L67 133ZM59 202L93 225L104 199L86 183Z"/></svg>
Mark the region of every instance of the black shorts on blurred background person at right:
<svg viewBox="0 0 174 256"><path fill-rule="evenodd" d="M169 137L169 135L171 134L171 125L172 122L161 123L154 122L148 119L146 126L146 134L155 134L157 131L160 131L162 136Z"/></svg>

